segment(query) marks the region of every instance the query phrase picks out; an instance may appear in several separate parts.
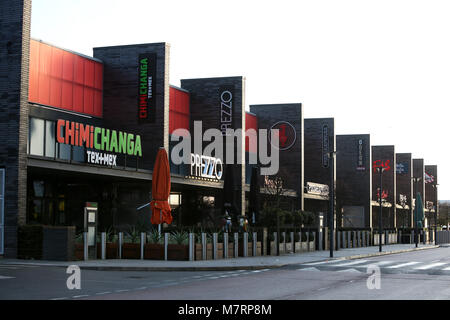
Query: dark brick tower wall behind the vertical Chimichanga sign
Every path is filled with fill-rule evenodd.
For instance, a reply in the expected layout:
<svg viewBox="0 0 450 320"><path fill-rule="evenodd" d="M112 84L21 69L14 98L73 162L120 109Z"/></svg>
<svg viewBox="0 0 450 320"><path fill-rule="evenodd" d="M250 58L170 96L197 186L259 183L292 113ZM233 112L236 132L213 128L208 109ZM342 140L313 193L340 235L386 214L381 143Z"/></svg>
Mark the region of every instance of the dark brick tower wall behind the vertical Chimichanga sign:
<svg viewBox="0 0 450 320"><path fill-rule="evenodd" d="M138 120L139 55L156 54L155 120ZM153 169L159 147L168 150L169 134L169 45L149 43L94 48L94 57L103 61L104 126L134 134L142 141L143 157L139 167Z"/></svg>

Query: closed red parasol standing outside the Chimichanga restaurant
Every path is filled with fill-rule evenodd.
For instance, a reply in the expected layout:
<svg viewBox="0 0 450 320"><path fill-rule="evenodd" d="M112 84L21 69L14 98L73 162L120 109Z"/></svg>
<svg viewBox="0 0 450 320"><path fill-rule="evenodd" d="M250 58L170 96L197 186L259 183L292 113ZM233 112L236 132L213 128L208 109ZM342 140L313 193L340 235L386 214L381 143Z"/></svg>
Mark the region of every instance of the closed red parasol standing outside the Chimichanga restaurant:
<svg viewBox="0 0 450 320"><path fill-rule="evenodd" d="M152 224L172 223L172 215L169 205L170 195L170 167L167 152L160 148L156 155L155 166L153 168L152 178Z"/></svg>

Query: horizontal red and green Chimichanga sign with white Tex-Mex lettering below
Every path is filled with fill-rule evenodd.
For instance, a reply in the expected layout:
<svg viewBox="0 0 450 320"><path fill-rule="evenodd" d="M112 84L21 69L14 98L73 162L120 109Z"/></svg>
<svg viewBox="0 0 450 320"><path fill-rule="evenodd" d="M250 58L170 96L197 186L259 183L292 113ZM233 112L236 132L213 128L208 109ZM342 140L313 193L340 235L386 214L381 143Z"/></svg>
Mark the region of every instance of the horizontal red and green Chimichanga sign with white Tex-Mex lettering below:
<svg viewBox="0 0 450 320"><path fill-rule="evenodd" d="M87 162L92 164L117 165L117 155L99 151L142 157L139 135L74 121L60 119L56 122L56 140L61 144L94 149L86 150Z"/></svg>

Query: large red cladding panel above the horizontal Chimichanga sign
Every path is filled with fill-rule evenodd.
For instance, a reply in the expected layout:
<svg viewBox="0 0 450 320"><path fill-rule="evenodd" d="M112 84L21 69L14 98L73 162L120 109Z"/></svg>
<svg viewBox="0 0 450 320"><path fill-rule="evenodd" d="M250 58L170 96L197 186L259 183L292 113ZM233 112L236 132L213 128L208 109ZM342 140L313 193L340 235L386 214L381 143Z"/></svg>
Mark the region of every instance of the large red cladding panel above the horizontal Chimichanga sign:
<svg viewBox="0 0 450 320"><path fill-rule="evenodd" d="M101 117L103 64L31 40L28 100Z"/></svg>

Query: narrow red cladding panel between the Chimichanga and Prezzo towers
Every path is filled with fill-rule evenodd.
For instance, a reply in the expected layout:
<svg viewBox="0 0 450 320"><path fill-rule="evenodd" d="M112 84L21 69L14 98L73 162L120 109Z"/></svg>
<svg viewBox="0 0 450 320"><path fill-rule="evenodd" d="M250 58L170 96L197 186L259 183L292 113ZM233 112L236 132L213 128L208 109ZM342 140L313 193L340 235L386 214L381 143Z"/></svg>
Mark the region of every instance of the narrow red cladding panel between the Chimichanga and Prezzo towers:
<svg viewBox="0 0 450 320"><path fill-rule="evenodd" d="M189 93L170 87L169 133L176 129L189 130L190 109Z"/></svg>

